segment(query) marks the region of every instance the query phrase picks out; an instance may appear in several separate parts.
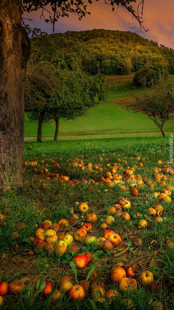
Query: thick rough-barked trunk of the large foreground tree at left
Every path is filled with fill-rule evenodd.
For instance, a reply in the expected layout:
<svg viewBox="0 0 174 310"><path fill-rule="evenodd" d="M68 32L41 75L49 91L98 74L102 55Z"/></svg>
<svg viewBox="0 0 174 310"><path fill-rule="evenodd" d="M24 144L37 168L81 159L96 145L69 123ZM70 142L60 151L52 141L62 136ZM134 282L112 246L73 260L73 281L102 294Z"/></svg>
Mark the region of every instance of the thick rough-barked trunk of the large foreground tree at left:
<svg viewBox="0 0 174 310"><path fill-rule="evenodd" d="M25 72L30 55L22 0L0 1L0 191L23 186Z"/></svg>

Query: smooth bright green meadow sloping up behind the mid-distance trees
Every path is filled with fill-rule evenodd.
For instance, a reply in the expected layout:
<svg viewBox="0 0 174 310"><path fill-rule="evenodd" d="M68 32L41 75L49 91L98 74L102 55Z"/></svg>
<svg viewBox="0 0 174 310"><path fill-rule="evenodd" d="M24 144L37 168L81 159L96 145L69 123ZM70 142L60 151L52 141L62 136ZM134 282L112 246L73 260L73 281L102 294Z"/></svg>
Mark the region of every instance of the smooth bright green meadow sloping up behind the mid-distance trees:
<svg viewBox="0 0 174 310"><path fill-rule="evenodd" d="M129 76L110 76L110 80L115 78L128 79ZM121 81L122 81L121 80ZM112 135L123 133L142 133L142 132L159 132L159 128L145 115L140 113L129 113L119 104L112 100L130 96L131 92L141 93L140 87L135 87L132 81L116 82L116 90L110 87L107 103L101 103L89 110L88 117L79 117L75 121L59 122L59 136L79 136L79 135ZM165 125L166 132L172 131L174 121L168 121ZM43 137L53 137L55 124L43 124ZM25 137L37 136L37 123L28 123L25 121Z"/></svg>

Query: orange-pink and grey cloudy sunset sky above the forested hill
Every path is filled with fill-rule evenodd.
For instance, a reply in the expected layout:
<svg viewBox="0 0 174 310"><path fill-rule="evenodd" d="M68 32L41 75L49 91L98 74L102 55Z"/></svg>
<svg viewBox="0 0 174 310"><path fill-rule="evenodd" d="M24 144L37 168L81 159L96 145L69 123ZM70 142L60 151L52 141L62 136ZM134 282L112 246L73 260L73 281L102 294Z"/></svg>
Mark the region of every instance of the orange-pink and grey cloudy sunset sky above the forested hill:
<svg viewBox="0 0 174 310"><path fill-rule="evenodd" d="M139 3L140 0L137 0ZM143 10L144 27L149 29L148 32L140 30L138 22L132 18L132 15L124 8L115 7L115 11L112 12L112 8L109 5L105 5L104 0L95 1L92 4L87 4L87 11L91 12L91 15L86 15L82 20L78 20L78 17L73 14L69 14L69 17L63 17L55 23L55 33L63 33L67 30L91 30L97 29L110 29L110 30L123 30L132 31L140 34L142 37L148 38L163 44L168 47L174 48L174 1L173 0L145 0ZM136 9L137 4L133 4ZM25 20L26 24L30 24L33 28L40 28L41 31L52 33L53 26L47 24L44 19L40 19L41 13L31 12L24 13L24 17L31 18L33 21ZM47 15L46 15L47 17Z"/></svg>

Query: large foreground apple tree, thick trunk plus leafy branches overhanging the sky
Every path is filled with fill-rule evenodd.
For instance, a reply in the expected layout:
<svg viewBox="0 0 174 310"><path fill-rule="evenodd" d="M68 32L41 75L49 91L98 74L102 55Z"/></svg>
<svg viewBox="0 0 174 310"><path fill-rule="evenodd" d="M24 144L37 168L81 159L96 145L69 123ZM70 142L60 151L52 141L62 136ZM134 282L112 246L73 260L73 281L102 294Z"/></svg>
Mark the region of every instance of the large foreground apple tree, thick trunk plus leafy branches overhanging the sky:
<svg viewBox="0 0 174 310"><path fill-rule="evenodd" d="M139 12L132 3L136 0L104 0L116 7L126 8L142 26ZM92 0L88 0L92 3ZM139 1L143 9L143 1ZM67 2L57 0L1 0L0 1L0 190L22 187L22 165L24 150L24 95L25 73L30 56L30 41L26 32L23 12L49 12L46 22L53 24L69 13L79 19L86 14L87 6L83 0ZM100 6L98 6L100 10ZM141 12L140 12L141 14ZM143 26L142 26L143 27ZM29 28L26 25L26 28ZM143 27L144 28L144 27ZM31 29L29 29L31 30ZM33 29L37 33L37 29Z"/></svg>

